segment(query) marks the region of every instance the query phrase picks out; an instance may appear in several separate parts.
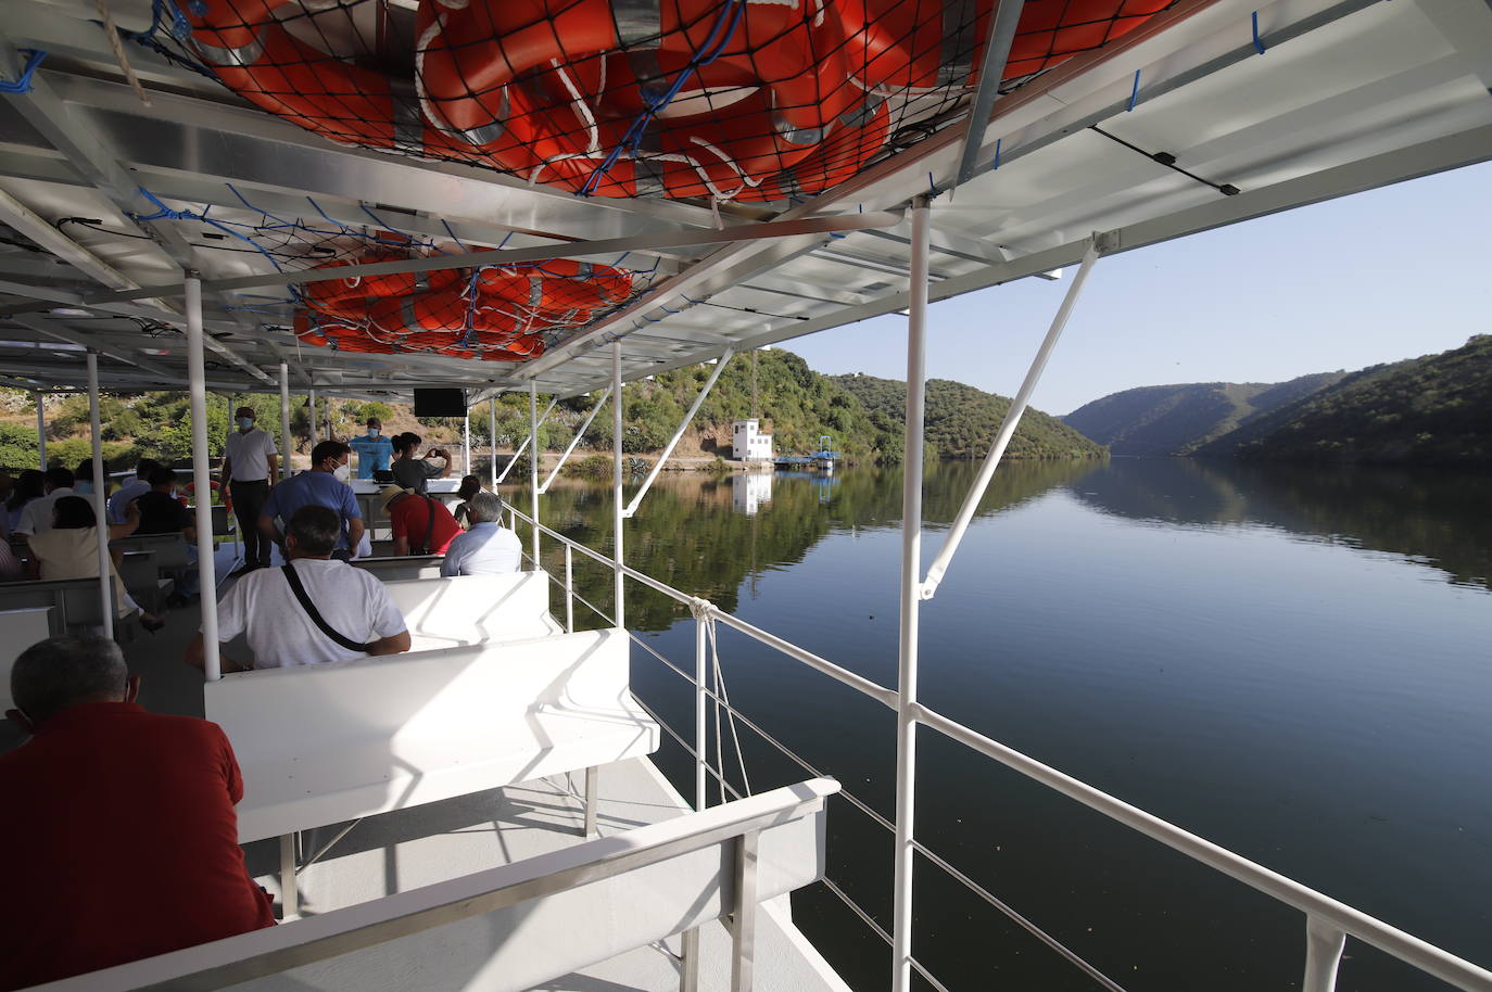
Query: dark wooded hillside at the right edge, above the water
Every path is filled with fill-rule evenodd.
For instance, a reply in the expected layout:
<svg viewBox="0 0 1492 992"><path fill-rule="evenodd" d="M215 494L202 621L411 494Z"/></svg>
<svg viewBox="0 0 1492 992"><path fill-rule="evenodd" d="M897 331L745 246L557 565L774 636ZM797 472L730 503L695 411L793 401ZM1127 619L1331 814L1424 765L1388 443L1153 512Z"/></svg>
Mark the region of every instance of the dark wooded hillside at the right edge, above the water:
<svg viewBox="0 0 1492 992"><path fill-rule="evenodd" d="M1343 376L1197 455L1320 462L1492 462L1492 334Z"/></svg>

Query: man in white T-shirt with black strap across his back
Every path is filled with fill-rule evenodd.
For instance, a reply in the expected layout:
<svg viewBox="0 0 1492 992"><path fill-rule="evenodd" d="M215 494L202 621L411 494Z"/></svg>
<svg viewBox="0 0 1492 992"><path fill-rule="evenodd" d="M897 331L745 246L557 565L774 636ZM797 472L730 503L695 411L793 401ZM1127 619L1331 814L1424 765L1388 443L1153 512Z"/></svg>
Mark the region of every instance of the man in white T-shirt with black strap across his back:
<svg viewBox="0 0 1492 992"><path fill-rule="evenodd" d="M218 606L218 640L248 634L254 662L222 658L224 671L280 668L348 661L409 650L404 616L372 573L331 558L342 521L324 506L303 506L291 516L283 568L255 571ZM291 576L300 583L297 597ZM203 667L198 632L186 664Z"/></svg>

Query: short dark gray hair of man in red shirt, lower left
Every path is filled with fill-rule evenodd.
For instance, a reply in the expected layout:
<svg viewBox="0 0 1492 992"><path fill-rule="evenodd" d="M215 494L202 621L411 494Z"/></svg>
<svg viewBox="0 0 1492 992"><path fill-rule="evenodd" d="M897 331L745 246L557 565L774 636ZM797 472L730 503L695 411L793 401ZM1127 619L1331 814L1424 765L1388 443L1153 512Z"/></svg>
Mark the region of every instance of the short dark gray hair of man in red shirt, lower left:
<svg viewBox="0 0 1492 992"><path fill-rule="evenodd" d="M122 700L128 679L124 653L107 637L48 637L15 659L10 697L40 723L69 706Z"/></svg>

